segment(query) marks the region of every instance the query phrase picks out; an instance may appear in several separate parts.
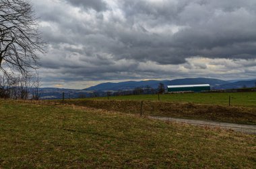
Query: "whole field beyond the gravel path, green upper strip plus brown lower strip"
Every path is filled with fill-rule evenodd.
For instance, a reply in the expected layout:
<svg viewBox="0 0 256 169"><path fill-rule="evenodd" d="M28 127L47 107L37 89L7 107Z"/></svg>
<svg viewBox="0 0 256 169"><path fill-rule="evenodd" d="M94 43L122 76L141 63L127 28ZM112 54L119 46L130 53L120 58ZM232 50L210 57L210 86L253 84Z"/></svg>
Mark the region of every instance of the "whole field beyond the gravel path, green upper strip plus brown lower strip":
<svg viewBox="0 0 256 169"><path fill-rule="evenodd" d="M162 94L160 101L157 94L107 99L72 99L65 103L139 114L143 100L142 109L146 115L256 125L256 92Z"/></svg>

